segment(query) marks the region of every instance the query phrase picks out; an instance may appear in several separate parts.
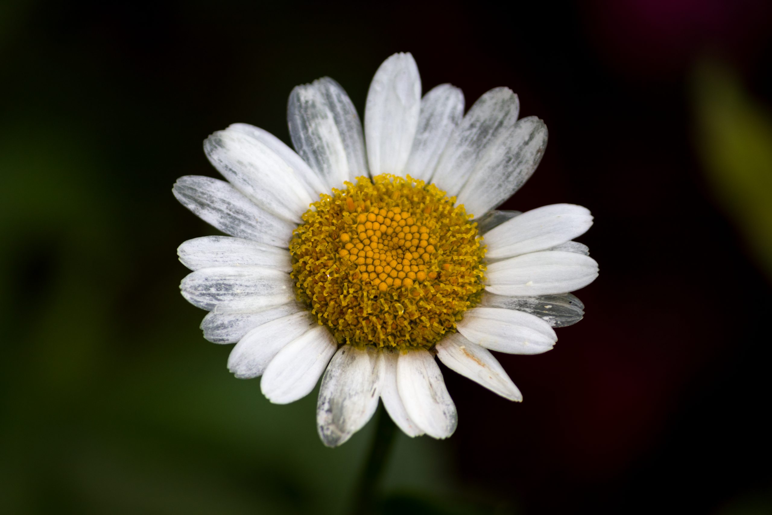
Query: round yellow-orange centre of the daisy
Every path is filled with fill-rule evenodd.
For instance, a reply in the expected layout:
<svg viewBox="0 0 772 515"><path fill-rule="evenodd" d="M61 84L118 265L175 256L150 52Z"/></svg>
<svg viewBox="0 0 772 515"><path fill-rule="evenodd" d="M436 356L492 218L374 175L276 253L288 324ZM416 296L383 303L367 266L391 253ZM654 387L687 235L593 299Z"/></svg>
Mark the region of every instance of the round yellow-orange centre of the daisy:
<svg viewBox="0 0 772 515"><path fill-rule="evenodd" d="M476 223L423 181L346 185L313 203L289 243L299 300L338 343L432 347L482 293Z"/></svg>

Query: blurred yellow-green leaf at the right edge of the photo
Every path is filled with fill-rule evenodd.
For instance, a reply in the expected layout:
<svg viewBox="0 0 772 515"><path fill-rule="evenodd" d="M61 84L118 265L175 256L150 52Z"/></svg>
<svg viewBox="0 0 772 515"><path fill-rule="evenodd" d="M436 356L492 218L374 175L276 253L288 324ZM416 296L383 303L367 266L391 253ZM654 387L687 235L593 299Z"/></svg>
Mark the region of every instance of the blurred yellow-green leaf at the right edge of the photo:
<svg viewBox="0 0 772 515"><path fill-rule="evenodd" d="M772 279L772 116L716 60L695 67L692 99L696 146L709 184Z"/></svg>

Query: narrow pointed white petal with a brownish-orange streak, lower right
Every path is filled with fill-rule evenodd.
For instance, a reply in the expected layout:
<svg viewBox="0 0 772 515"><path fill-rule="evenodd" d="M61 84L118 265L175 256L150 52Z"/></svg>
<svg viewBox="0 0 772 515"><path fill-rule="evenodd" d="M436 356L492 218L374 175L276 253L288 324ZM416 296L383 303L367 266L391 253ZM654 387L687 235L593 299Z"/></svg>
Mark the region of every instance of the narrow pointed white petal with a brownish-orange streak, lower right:
<svg viewBox="0 0 772 515"><path fill-rule="evenodd" d="M452 371L479 383L510 401L522 401L523 395L493 354L473 344L459 333L448 334L437 344L437 357Z"/></svg>

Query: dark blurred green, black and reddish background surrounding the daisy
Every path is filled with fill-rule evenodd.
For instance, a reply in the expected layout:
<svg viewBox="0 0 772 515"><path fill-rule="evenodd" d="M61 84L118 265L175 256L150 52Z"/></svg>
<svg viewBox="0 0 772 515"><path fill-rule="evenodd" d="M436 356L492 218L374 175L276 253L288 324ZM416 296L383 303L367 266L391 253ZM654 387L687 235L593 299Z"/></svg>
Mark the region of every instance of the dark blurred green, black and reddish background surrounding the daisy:
<svg viewBox="0 0 772 515"><path fill-rule="evenodd" d="M0 511L342 513L316 394L270 405L185 302L174 200L234 122L289 141L293 86L360 114L391 53L467 106L547 122L506 208L586 205L586 319L502 356L512 404L447 369L459 429L399 435L389 513L772 513L772 9L751 0L0 2Z"/></svg>

